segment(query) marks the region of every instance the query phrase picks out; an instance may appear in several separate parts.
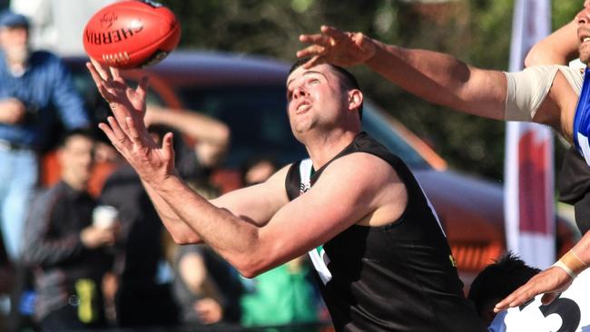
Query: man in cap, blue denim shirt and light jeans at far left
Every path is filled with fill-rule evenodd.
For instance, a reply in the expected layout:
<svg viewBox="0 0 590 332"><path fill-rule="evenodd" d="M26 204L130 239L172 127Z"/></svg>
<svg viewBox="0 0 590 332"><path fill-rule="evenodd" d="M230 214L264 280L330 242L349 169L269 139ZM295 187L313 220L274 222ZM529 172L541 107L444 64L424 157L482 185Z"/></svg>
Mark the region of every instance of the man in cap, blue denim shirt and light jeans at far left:
<svg viewBox="0 0 590 332"><path fill-rule="evenodd" d="M64 63L30 50L29 21L0 13L0 229L18 261L28 200L37 183L38 151L59 119L68 130L90 124Z"/></svg>

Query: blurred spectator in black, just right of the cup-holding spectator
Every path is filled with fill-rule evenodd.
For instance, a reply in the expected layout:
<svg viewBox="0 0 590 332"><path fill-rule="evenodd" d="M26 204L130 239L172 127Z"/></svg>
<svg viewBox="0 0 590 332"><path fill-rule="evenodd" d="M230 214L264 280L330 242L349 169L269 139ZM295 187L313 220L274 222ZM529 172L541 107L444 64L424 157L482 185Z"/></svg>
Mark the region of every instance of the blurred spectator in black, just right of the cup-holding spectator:
<svg viewBox="0 0 590 332"><path fill-rule="evenodd" d="M109 318L118 327L176 324L178 310L170 285L158 279L164 258L162 221L131 166L124 163L113 171L104 182L100 201L113 206L121 222L112 274L104 286Z"/></svg>

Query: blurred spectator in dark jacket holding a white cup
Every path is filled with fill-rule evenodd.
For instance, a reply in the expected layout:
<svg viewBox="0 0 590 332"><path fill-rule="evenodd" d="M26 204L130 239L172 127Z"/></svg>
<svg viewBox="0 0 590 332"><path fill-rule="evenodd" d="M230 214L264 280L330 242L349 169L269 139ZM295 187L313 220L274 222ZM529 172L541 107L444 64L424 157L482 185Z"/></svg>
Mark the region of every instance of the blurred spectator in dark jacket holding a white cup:
<svg viewBox="0 0 590 332"><path fill-rule="evenodd" d="M65 135L57 157L62 180L34 200L27 220L25 263L34 269L35 316L44 331L104 327L101 282L110 265L117 223L93 223L87 192L93 136Z"/></svg>

